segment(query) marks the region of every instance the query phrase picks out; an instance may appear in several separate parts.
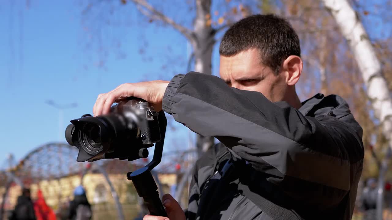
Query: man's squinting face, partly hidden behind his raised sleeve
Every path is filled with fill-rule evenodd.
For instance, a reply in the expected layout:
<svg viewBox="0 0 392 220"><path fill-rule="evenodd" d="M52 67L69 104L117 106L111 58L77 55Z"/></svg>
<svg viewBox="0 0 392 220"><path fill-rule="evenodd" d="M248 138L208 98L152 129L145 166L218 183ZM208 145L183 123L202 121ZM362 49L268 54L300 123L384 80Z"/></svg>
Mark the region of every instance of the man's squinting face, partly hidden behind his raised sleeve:
<svg viewBox="0 0 392 220"><path fill-rule="evenodd" d="M219 73L230 87L261 92L272 102L282 101L287 91L285 74L275 76L270 67L261 63L257 49L220 56Z"/></svg>

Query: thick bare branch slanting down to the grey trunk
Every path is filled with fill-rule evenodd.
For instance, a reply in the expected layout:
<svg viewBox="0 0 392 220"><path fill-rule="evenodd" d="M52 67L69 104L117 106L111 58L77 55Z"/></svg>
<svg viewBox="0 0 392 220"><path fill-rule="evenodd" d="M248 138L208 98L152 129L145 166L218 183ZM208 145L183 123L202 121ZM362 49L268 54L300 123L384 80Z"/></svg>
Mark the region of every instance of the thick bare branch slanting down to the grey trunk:
<svg viewBox="0 0 392 220"><path fill-rule="evenodd" d="M186 27L181 26L180 24L174 22L171 18L167 17L165 14L162 12L156 10L151 4L149 4L145 0L132 0L138 7L139 11L144 14L145 16L148 16L151 19L154 20L161 20L172 27L179 31L181 34L183 34L188 40L192 40L191 36L191 31L187 29ZM143 6L145 9L143 9L141 6Z"/></svg>

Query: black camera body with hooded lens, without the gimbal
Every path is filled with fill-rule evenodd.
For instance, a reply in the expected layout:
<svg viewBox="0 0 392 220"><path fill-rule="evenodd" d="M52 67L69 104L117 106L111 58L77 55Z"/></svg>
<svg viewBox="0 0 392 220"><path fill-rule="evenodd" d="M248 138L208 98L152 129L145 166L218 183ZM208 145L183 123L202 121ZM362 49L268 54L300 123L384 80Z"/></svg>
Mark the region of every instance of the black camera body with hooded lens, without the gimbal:
<svg viewBox="0 0 392 220"><path fill-rule="evenodd" d="M72 120L65 139L79 149L78 162L146 158L147 148L161 140L158 115L147 101L127 97L112 106L109 114Z"/></svg>

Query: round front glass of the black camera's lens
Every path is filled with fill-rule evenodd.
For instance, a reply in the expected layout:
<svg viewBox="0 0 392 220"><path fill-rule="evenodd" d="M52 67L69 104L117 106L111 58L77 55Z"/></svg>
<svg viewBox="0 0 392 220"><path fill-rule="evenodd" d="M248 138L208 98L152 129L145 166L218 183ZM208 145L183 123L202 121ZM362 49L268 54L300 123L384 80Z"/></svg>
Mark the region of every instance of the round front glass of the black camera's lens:
<svg viewBox="0 0 392 220"><path fill-rule="evenodd" d="M93 123L87 123L82 129L82 142L90 154L97 154L102 150L100 128Z"/></svg>

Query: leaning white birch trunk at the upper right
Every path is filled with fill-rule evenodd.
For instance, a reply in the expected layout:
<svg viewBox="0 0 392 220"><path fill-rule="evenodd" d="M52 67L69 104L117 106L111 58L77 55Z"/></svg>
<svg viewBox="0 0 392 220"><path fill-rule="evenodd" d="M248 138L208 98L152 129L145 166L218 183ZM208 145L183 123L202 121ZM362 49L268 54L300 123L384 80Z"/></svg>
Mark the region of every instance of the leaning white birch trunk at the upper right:
<svg viewBox="0 0 392 220"><path fill-rule="evenodd" d="M323 2L352 49L367 88L367 96L372 102L374 114L380 120L383 134L388 139L388 146L392 148L392 99L387 81L381 72L381 63L368 34L347 0L323 0Z"/></svg>

